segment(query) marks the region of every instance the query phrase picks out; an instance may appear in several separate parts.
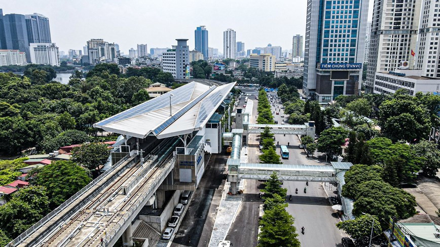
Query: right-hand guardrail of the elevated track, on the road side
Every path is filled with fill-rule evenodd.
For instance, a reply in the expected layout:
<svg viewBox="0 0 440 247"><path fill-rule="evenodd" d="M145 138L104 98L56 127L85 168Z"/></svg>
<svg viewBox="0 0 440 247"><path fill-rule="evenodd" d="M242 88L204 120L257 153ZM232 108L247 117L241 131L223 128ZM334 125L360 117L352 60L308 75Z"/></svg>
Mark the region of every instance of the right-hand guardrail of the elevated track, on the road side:
<svg viewBox="0 0 440 247"><path fill-rule="evenodd" d="M115 237L115 235L121 230L122 226L130 220L131 216L135 214L136 210L139 209L139 207L143 207L143 203L146 199L150 199L151 195L156 191L156 187L159 187L162 181L165 179L166 176L168 176L168 173L172 170L174 167L174 163L176 160L176 156L173 156L166 164L163 166L163 169L160 172L160 175L146 188L137 198L137 200L134 201L132 207L122 216L122 218L116 223L114 227L112 227L111 230L107 232L105 237L102 239L101 246L107 246L109 242L112 241L112 239ZM147 198L148 197L148 198ZM131 222L130 222L131 224ZM103 245L104 244L104 245Z"/></svg>

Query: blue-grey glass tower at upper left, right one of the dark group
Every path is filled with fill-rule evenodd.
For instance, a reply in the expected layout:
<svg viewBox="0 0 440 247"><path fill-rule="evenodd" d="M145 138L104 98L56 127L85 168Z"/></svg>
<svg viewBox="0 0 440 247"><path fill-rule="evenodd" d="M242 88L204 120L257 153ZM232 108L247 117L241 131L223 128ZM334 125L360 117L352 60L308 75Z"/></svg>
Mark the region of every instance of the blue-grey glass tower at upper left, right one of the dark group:
<svg viewBox="0 0 440 247"><path fill-rule="evenodd" d="M27 38L30 43L52 43L49 18L33 13L25 15Z"/></svg>

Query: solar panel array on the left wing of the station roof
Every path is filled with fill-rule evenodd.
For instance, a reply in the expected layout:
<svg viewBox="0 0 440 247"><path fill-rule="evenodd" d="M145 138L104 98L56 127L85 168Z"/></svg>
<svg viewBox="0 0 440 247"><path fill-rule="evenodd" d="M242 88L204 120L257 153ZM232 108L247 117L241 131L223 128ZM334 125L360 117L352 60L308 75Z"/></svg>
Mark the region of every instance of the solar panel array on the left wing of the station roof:
<svg viewBox="0 0 440 247"><path fill-rule="evenodd" d="M191 99L191 96L193 94L194 88L196 86L195 82L189 83L187 85L181 86L177 89L174 89L172 91L173 96L171 97L171 104L176 105L180 104L182 102L189 101ZM165 95L169 95L170 93L166 93ZM125 110L121 113L118 113L114 116L111 116L109 118L106 118L100 122L95 123L96 126L105 126L109 123L113 123L116 121L124 120L133 116L145 114L151 111L155 111L158 109L165 108L169 106L169 97L156 97L154 99L151 99L149 101L143 102L137 106L134 106L128 110Z"/></svg>

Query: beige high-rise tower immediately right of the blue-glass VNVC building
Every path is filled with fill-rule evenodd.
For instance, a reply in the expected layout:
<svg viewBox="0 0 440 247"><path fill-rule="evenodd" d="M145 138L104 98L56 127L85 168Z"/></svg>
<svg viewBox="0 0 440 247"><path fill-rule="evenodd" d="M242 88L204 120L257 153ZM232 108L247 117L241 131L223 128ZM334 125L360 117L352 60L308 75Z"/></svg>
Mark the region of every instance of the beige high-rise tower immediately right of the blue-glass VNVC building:
<svg viewBox="0 0 440 247"><path fill-rule="evenodd" d="M366 93L374 92L377 71L393 71L402 63L413 68L414 57L411 56L411 50L416 48L421 5L420 0L375 1L365 81Z"/></svg>

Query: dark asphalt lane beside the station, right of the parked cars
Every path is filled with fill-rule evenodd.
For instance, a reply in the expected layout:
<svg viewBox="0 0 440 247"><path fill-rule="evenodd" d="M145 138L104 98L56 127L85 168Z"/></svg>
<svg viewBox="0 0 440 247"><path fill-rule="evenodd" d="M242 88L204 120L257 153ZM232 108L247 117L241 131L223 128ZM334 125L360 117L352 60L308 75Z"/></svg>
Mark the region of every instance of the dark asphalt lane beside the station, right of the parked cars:
<svg viewBox="0 0 440 247"><path fill-rule="evenodd" d="M212 154L171 246L208 245L214 227L215 209L220 204L221 190L225 184L222 173L226 160L227 156L224 154ZM219 192L215 193L216 191Z"/></svg>

